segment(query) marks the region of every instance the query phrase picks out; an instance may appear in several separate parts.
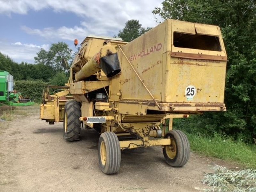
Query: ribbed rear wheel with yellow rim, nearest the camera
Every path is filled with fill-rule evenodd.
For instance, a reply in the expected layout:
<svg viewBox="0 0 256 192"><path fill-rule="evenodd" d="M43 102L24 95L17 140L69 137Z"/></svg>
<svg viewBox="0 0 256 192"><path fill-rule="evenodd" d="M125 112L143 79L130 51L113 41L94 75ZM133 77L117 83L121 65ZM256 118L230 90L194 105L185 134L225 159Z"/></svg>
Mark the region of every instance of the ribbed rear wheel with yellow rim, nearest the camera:
<svg viewBox="0 0 256 192"><path fill-rule="evenodd" d="M100 170L105 174L118 172L121 163L119 140L115 133L104 132L100 135L99 145Z"/></svg>

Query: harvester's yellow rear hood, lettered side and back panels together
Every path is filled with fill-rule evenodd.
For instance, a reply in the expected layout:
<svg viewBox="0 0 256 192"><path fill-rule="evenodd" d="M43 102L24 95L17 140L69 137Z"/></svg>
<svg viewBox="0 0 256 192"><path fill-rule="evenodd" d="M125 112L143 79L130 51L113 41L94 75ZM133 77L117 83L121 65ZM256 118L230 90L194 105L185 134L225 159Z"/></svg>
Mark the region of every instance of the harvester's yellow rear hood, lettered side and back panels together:
<svg viewBox="0 0 256 192"><path fill-rule="evenodd" d="M123 46L122 49L125 55L158 102L223 103L227 55L225 49L223 49L224 44L221 33L216 26L198 26L198 30L202 26L208 26L208 29L216 29L214 32L209 33L212 35L218 33L218 36L220 36L221 51L200 50L198 52L196 49L174 47L173 31L190 34L196 33L194 23L177 20L167 20L133 40L131 43ZM157 48L157 45L159 45L159 50L150 52L150 50L154 50L154 46ZM176 55L174 55L175 53ZM143 87L139 78L120 51L118 51L118 55L122 68L120 75L122 95L120 100L152 101L145 87ZM117 83L117 78L115 83ZM116 92L117 89L116 87ZM192 92L188 93L189 90ZM187 97L191 93L195 95L193 97ZM136 115L136 113L144 114L144 107L135 110L132 109L135 106L129 106L128 103L121 104L121 106L119 107L119 110L121 110L120 113L133 115ZM150 106L149 108L155 109L156 106ZM211 110L210 108L204 107L202 109ZM193 110L196 109L196 107L193 108ZM218 107L212 107L212 109L222 110ZM168 107L166 110L168 110ZM169 108L169 110L172 109ZM178 110L184 111L188 109L184 109L183 107ZM198 110L201 109L199 108Z"/></svg>

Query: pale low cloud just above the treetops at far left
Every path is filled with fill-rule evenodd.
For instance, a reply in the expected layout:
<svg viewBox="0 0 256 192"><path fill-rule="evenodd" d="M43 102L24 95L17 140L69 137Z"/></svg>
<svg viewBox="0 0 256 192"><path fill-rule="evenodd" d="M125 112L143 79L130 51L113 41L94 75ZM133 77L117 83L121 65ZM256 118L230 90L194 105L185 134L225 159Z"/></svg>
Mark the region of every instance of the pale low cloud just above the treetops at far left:
<svg viewBox="0 0 256 192"><path fill-rule="evenodd" d="M41 48L49 50L49 44L36 45L36 44L22 44L21 42L16 43L4 43L0 42L0 52L8 55L10 58L17 62L27 61L34 63L34 57L36 52L39 52Z"/></svg>

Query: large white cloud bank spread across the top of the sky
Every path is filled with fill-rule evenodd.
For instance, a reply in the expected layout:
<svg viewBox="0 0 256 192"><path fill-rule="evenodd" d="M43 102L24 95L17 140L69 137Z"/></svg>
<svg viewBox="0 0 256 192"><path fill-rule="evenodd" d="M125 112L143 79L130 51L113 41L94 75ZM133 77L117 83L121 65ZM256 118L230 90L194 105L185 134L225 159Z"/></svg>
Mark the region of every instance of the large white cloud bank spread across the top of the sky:
<svg viewBox="0 0 256 192"><path fill-rule="evenodd" d="M0 13L27 14L29 10L50 8L54 12L73 12L81 17L81 21L68 28L62 26L44 29L34 29L22 26L22 29L33 35L42 36L48 40L62 39L80 41L89 34L113 36L124 28L126 21L140 20L142 27L156 25L152 11L160 6L163 0L0 0Z"/></svg>

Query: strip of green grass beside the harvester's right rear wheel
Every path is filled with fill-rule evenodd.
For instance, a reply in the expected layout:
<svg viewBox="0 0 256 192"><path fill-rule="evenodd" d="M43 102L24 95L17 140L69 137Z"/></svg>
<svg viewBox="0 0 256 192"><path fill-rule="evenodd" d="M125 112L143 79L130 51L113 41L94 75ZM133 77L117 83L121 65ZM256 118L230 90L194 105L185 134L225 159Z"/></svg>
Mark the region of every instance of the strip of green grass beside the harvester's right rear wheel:
<svg viewBox="0 0 256 192"><path fill-rule="evenodd" d="M231 135L217 132L203 116L191 116L189 119L174 119L173 129L183 131L190 142L191 150L207 157L237 162L246 168L256 169L256 141L248 135ZM248 144L248 143L249 144Z"/></svg>

